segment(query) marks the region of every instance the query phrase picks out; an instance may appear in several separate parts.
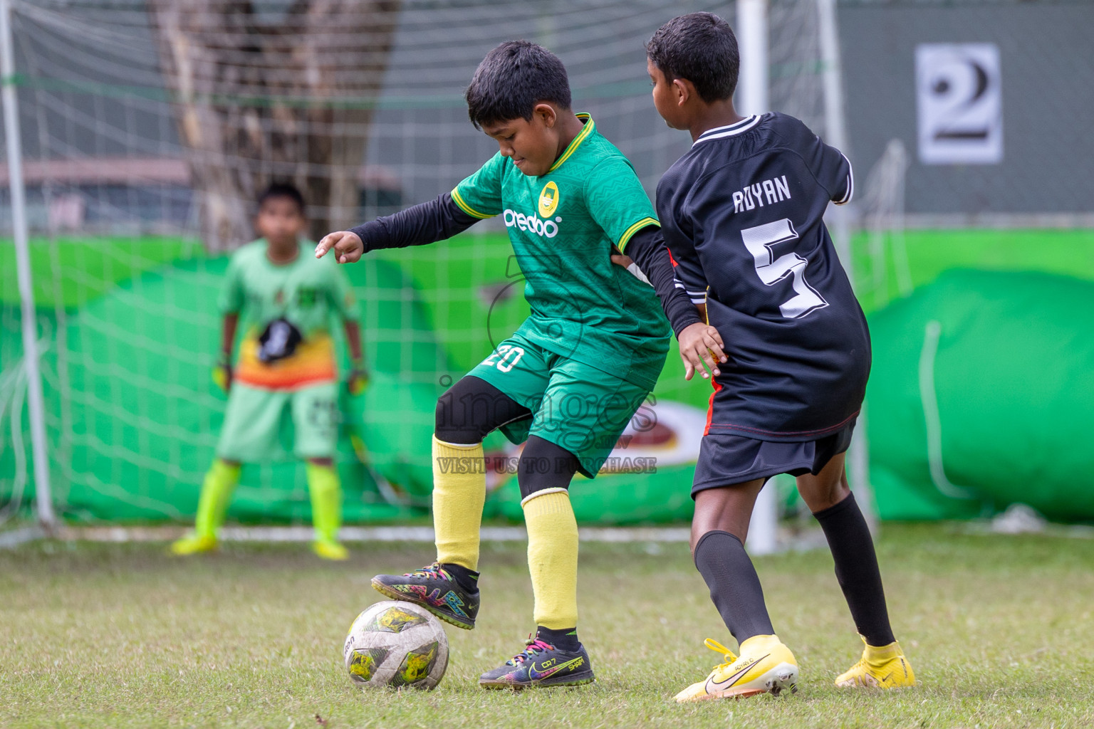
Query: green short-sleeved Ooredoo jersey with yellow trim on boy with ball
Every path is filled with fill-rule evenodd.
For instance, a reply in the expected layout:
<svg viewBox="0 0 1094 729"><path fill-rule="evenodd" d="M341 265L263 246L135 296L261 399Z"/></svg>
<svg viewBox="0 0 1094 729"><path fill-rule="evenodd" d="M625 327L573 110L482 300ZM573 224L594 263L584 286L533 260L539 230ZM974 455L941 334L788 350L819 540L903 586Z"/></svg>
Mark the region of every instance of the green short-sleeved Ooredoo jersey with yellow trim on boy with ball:
<svg viewBox="0 0 1094 729"><path fill-rule="evenodd" d="M668 351L653 287L612 262L656 213L630 162L584 127L547 174L496 154L452 190L475 217L502 215L532 315L517 331L544 349L652 388Z"/></svg>

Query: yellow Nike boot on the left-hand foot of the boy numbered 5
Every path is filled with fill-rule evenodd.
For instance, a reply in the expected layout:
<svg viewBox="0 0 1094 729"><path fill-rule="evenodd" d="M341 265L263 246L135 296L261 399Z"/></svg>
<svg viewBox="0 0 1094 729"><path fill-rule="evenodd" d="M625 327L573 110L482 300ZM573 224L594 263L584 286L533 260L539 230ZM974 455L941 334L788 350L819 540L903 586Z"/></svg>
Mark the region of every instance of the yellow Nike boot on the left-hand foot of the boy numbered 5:
<svg viewBox="0 0 1094 729"><path fill-rule="evenodd" d="M777 635L757 635L741 644L741 657L713 638L707 647L725 656L705 681L693 683L676 694L677 703L708 698L744 698L782 691L798 691L798 661Z"/></svg>

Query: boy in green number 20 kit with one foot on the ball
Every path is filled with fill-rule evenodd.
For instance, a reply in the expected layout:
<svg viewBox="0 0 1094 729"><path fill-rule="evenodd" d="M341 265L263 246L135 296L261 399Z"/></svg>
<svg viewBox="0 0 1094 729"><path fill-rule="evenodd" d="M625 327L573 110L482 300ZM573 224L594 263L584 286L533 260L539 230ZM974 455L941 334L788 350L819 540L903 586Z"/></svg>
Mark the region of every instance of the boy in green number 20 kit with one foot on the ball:
<svg viewBox="0 0 1094 729"><path fill-rule="evenodd" d="M570 480L579 471L596 477L653 389L668 350L665 315L688 367L701 369L706 361L717 372L721 342L676 286L653 207L630 163L589 115L570 109L566 68L557 57L527 42L504 43L479 64L466 99L472 121L498 142L498 154L451 193L331 233L315 251L322 257L334 250L339 262L353 262L369 250L433 243L500 215L532 309L512 337L438 402L437 562L405 575L377 575L372 584L454 625L475 626L486 497L482 438L500 428L513 443L526 442L517 482L536 633L479 684L590 683L593 670L577 634L578 527ZM637 266L613 263L622 251Z"/></svg>

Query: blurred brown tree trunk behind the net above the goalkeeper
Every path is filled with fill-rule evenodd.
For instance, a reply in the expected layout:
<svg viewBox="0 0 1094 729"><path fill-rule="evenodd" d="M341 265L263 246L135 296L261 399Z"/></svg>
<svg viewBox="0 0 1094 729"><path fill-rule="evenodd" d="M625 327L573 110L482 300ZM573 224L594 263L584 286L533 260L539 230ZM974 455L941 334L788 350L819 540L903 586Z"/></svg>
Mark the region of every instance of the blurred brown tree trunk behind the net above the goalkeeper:
<svg viewBox="0 0 1094 729"><path fill-rule="evenodd" d="M356 222L400 0L255 4L149 3L210 251L255 237L255 199L275 180L300 187L314 239Z"/></svg>

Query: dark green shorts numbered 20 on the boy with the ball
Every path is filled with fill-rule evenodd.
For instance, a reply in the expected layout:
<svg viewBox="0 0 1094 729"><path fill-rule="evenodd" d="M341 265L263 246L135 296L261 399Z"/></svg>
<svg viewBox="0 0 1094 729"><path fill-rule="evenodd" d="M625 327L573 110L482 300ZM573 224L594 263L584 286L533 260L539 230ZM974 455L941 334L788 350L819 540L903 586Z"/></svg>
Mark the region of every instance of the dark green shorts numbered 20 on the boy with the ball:
<svg viewBox="0 0 1094 729"><path fill-rule="evenodd" d="M472 369L532 411L501 432L513 443L537 435L578 457L579 470L595 478L624 428L650 390L592 365L549 352L513 334Z"/></svg>

